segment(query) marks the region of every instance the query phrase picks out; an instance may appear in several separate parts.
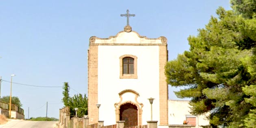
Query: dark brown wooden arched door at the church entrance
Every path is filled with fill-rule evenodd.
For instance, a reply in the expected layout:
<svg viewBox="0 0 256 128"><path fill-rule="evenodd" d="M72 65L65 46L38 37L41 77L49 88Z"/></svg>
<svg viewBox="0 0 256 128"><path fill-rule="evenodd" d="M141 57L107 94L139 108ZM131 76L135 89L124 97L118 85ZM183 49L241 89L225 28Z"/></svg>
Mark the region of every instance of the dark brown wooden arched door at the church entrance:
<svg viewBox="0 0 256 128"><path fill-rule="evenodd" d="M120 120L124 120L124 127L138 126L138 108L127 103L120 106Z"/></svg>

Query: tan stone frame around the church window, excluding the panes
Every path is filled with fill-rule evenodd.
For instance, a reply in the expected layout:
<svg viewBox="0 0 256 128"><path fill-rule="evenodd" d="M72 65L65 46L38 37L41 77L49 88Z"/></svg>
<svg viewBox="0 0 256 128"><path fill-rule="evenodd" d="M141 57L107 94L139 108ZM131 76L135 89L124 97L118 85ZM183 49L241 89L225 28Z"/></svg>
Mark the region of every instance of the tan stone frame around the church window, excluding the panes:
<svg viewBox="0 0 256 128"><path fill-rule="evenodd" d="M134 59L134 74L123 74L123 59L126 58L126 57L130 57L130 58L133 58ZM133 78L133 79L137 79L138 76L137 76L137 56L134 56L134 55L129 55L129 54L126 54L126 55L122 55L119 57L119 61L120 61L120 79L125 79L125 78Z"/></svg>

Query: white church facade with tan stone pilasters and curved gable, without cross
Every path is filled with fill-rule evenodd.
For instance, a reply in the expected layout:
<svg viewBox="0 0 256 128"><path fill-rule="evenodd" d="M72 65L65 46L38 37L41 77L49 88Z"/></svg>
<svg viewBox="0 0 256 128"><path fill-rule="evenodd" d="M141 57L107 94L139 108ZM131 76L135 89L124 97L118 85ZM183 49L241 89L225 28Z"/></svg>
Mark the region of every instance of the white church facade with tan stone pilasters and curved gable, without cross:
<svg viewBox="0 0 256 128"><path fill-rule="evenodd" d="M164 67L167 39L150 39L124 30L109 38L91 37L88 50L89 124L104 126L124 120L125 126L152 120L168 125L168 85ZM98 108L96 104L100 104Z"/></svg>

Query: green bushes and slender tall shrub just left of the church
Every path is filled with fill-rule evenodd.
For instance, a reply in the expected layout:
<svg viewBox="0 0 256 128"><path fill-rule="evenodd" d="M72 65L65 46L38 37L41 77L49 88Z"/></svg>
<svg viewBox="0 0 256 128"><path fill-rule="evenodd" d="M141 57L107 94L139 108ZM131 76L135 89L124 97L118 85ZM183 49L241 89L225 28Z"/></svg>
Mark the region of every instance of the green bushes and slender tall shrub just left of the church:
<svg viewBox="0 0 256 128"><path fill-rule="evenodd" d="M74 108L78 108L77 116L83 117L88 114L88 98L86 94L76 94L73 97L69 97L69 85L67 82L64 82L63 87L63 99L64 105L70 108L70 115L76 115Z"/></svg>

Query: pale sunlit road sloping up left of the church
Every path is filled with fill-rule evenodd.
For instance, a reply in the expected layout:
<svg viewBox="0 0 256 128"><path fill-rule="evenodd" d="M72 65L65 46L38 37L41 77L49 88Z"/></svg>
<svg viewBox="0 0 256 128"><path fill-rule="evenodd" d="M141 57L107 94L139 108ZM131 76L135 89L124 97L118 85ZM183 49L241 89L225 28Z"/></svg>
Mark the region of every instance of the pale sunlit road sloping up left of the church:
<svg viewBox="0 0 256 128"><path fill-rule="evenodd" d="M58 128L58 121L27 121L11 119L7 124L0 125L0 128Z"/></svg>

